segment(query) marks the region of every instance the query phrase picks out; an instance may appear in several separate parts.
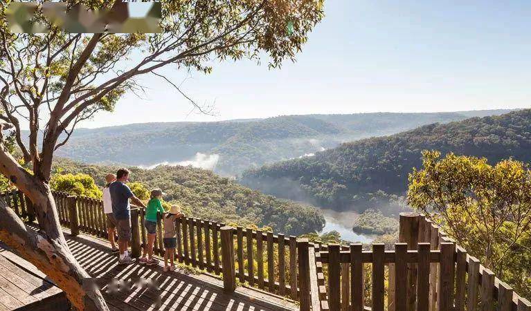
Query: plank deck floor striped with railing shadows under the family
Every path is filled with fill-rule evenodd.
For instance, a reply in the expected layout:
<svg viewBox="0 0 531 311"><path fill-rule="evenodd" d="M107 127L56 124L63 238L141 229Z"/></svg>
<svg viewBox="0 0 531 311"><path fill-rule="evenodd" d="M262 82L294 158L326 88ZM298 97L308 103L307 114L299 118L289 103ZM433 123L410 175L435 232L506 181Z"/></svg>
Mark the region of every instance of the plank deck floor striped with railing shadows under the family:
<svg viewBox="0 0 531 311"><path fill-rule="evenodd" d="M162 265L118 265L105 241L64 231L71 252L95 278L111 310L298 310L294 303L267 292L239 287L226 294L222 280L193 270L163 272ZM2 254L9 259L0 256L0 310L69 310L57 308L57 303L69 303L37 268L6 247L0 248Z"/></svg>

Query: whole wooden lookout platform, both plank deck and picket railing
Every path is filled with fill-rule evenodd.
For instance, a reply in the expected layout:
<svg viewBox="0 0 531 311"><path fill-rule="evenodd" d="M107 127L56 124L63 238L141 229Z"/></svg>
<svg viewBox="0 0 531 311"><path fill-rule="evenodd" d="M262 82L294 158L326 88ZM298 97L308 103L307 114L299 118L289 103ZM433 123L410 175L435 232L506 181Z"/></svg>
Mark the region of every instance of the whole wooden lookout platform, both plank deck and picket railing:
<svg viewBox="0 0 531 311"><path fill-rule="evenodd" d="M176 258L181 270L163 272L161 265L118 265L105 241L100 200L53 195L71 252L100 286L111 310L531 311L530 301L420 214L400 215L400 243L391 249L384 244L310 243L213 220L179 218ZM0 197L37 229L27 198L17 191ZM141 225L145 211L132 208L131 216L131 254L138 257L147 236ZM161 256L158 217L154 254ZM17 269L12 266L17 262L24 261L0 257L0 309L58 310L24 307L60 292L46 276L18 284L16 276L1 273ZM35 268L19 269L38 274Z"/></svg>

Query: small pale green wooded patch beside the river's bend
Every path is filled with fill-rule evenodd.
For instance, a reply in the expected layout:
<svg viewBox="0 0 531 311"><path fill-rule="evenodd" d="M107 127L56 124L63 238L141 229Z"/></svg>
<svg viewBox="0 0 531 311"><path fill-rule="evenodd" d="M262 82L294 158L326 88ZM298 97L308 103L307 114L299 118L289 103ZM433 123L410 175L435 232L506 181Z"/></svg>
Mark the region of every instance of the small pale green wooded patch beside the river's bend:
<svg viewBox="0 0 531 311"><path fill-rule="evenodd" d="M381 211L366 209L354 221L354 232L359 234L395 234L398 231L398 220L386 217Z"/></svg>

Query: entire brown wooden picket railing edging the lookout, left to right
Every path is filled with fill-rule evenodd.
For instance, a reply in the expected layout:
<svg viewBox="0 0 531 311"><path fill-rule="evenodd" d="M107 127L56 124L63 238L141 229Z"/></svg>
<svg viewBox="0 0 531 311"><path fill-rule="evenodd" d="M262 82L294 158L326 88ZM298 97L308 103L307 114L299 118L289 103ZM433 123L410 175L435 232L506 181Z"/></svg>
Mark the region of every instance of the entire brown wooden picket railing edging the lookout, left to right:
<svg viewBox="0 0 531 311"><path fill-rule="evenodd" d="M54 192L60 223L107 238L102 202ZM1 194L17 215L35 220L19 191ZM158 216L154 254L163 256ZM145 211L133 207L132 256L147 241ZM222 276L233 292L237 281L300 302L300 310L531 311L531 303L469 256L424 216L400 215L395 249L383 244L321 245L306 239L180 218L177 261ZM368 275L365 275L368 274Z"/></svg>

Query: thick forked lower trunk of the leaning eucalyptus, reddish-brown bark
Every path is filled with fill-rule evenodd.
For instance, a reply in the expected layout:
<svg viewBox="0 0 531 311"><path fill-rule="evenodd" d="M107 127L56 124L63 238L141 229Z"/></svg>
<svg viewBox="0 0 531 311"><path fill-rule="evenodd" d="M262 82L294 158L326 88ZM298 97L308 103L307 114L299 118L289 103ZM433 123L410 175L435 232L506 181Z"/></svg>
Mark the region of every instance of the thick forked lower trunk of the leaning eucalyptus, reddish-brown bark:
<svg viewBox="0 0 531 311"><path fill-rule="evenodd" d="M52 279L74 308L109 310L89 274L66 244L48 183L32 176L9 153L1 150L0 171L33 202L40 227L39 232L26 227L15 211L0 200L0 240Z"/></svg>

